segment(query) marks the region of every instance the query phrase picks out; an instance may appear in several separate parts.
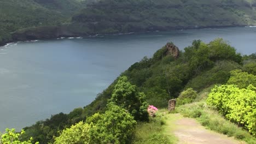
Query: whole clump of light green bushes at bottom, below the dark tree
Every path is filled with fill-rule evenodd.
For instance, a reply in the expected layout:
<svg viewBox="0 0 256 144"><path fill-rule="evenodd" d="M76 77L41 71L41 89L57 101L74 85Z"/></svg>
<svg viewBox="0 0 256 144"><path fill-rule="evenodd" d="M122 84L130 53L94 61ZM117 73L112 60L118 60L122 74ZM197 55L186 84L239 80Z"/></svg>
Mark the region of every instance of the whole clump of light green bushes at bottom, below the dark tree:
<svg viewBox="0 0 256 144"><path fill-rule="evenodd" d="M105 113L95 113L86 119L86 123L79 122L63 130L54 143L127 143L135 125L136 121L129 112L109 103Z"/></svg>

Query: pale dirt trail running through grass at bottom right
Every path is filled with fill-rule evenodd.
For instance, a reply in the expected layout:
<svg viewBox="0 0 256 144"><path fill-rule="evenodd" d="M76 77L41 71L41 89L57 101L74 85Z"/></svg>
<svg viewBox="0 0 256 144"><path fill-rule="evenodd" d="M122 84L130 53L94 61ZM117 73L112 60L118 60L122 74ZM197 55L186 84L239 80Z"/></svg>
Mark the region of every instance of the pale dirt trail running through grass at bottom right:
<svg viewBox="0 0 256 144"><path fill-rule="evenodd" d="M211 130L207 130L192 118L184 118L179 113L167 116L165 133L175 135L178 144L184 143L207 143L207 144L237 144L242 143Z"/></svg>

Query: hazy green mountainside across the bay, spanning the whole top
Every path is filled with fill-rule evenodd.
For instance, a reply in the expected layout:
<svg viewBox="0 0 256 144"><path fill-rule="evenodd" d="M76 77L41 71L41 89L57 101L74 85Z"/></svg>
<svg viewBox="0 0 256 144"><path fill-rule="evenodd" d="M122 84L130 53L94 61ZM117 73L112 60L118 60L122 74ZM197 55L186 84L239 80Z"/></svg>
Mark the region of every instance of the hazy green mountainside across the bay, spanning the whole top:
<svg viewBox="0 0 256 144"><path fill-rule="evenodd" d="M0 44L62 36L256 25L256 0L0 0Z"/></svg>

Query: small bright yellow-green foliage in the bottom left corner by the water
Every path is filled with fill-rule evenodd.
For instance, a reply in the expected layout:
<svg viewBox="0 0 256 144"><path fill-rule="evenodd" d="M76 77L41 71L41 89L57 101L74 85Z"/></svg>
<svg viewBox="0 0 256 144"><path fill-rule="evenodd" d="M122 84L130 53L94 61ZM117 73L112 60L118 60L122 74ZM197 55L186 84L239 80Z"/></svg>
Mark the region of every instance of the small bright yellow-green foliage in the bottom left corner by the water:
<svg viewBox="0 0 256 144"><path fill-rule="evenodd" d="M32 144L33 138L30 137L30 140L20 141L20 136L25 134L24 130L21 130L20 133L15 133L15 129L5 129L5 134L0 134L0 143L1 144ZM39 144L39 142L36 142Z"/></svg>

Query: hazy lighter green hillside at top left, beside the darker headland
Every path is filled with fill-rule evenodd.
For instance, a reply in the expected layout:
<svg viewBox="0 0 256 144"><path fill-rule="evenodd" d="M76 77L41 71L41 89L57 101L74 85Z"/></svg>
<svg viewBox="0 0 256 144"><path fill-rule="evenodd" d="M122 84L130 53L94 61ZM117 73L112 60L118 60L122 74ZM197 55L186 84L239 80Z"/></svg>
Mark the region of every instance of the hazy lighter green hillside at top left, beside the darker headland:
<svg viewBox="0 0 256 144"><path fill-rule="evenodd" d="M62 25L80 8L76 0L1 0L0 44L12 40L11 33L24 28Z"/></svg>

